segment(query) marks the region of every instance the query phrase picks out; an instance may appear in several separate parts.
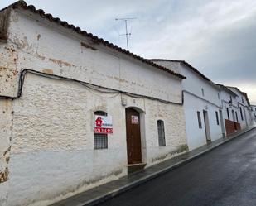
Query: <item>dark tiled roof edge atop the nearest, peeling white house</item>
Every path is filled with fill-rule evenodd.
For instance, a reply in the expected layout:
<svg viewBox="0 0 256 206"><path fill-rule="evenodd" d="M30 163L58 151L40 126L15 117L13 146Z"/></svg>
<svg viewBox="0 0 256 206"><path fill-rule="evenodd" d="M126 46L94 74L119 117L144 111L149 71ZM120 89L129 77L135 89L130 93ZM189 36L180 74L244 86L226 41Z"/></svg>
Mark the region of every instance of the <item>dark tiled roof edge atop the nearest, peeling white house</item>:
<svg viewBox="0 0 256 206"><path fill-rule="evenodd" d="M34 13L40 15L42 18L48 19L50 22L56 22L57 24L59 24L61 26L64 26L65 28L68 28L70 30L75 31L76 33L80 34L81 36L85 36L87 38L90 38L91 41L94 41L95 43L102 44L102 45L107 46L107 47L109 47L109 48L111 48L113 50L117 50L118 52L121 52L121 53L123 53L125 55L128 55L130 57L133 57L136 60L142 61L144 64L151 65L151 66L153 66L153 67L155 67L157 69L166 71L167 73L172 74L172 75L174 75L174 76L176 76L176 77L178 77L180 79L186 79L186 77L181 75L181 74L177 74L176 72L174 72L174 71L172 71L170 69L167 69L167 68L165 68L165 67L163 67L161 65L157 65L157 64L153 63L150 60L144 59L144 58L142 58L139 55L135 55L135 54L129 52L128 50L124 50L124 49L122 49L122 48L120 48L120 47L110 43L109 41L104 41L104 39L99 38L98 36L94 36L93 34L88 33L87 31L81 30L80 27L75 27L74 25L69 24L68 22L61 21L60 18L58 18L58 17L52 17L51 14L45 13L42 9L36 10L36 7L34 7L33 5L27 5L27 3L24 2L24 1L14 2L10 6L8 6L6 8L3 8L2 10L10 8L10 7L12 7L12 9L19 9L19 8L21 8L23 10L28 10L30 12L34 12Z"/></svg>

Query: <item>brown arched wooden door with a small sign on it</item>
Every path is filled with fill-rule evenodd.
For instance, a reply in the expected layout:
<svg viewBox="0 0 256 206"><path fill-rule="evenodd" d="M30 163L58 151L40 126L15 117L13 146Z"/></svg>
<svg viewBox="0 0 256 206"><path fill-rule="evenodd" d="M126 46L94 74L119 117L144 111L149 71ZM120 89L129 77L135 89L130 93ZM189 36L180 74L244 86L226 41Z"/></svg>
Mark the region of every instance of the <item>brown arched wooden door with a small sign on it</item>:
<svg viewBox="0 0 256 206"><path fill-rule="evenodd" d="M142 163L139 113L133 108L126 108L125 112L128 165Z"/></svg>

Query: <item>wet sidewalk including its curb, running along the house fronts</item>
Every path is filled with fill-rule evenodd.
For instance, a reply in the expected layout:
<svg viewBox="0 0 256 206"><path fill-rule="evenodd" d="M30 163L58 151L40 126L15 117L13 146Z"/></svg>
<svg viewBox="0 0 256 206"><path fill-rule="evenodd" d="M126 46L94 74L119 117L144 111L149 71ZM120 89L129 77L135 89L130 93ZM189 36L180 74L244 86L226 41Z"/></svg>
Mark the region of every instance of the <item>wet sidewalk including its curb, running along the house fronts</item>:
<svg viewBox="0 0 256 206"><path fill-rule="evenodd" d="M176 156L170 160L165 160L157 165L152 165L145 170L124 176L123 178L111 181L107 184L102 184L94 189L89 189L84 193L80 193L68 199L64 199L56 204L52 204L51 206L91 206L99 204L104 202L106 199L110 199L118 194L122 194L128 189L132 189L139 184L145 183L148 180L152 180L153 178L157 178L157 176L167 173L168 171L173 170L181 165L185 165L187 162L190 162L191 160L204 155L208 151L212 151L217 146L225 144L226 142L233 140L235 137L239 137L240 135L244 134L245 132L249 132L254 128L255 126L249 127L243 131L236 132L229 137L213 141L209 145L201 146L200 148L186 152L181 156Z"/></svg>

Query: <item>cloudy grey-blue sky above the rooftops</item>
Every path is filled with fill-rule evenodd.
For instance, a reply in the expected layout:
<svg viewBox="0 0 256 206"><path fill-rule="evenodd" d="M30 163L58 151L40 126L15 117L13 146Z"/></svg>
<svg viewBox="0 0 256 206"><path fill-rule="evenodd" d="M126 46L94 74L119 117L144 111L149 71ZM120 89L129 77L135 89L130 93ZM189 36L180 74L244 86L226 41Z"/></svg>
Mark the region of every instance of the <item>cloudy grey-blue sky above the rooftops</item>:
<svg viewBox="0 0 256 206"><path fill-rule="evenodd" d="M6 7L12 0L0 0ZM186 60L215 83L247 92L256 104L255 0L27 0L144 58Z"/></svg>

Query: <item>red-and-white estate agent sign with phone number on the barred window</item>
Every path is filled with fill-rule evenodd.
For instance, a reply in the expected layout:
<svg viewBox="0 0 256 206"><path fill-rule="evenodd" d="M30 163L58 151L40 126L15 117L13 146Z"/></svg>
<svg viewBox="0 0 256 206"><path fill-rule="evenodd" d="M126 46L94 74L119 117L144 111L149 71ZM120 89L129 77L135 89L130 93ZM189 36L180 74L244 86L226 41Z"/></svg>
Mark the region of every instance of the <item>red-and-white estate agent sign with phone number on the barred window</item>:
<svg viewBox="0 0 256 206"><path fill-rule="evenodd" d="M94 133L112 134L113 133L112 117L95 115Z"/></svg>

